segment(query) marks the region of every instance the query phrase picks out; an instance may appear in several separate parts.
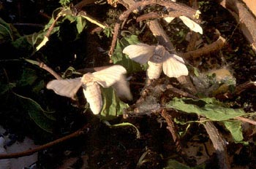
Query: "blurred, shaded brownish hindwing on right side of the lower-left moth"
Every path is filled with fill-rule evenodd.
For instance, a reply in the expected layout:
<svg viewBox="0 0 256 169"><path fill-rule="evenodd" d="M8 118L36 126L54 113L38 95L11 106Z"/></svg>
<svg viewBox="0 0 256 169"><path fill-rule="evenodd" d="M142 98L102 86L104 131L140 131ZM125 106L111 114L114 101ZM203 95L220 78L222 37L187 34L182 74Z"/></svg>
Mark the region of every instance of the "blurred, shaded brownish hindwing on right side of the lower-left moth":
<svg viewBox="0 0 256 169"><path fill-rule="evenodd" d="M120 98L122 101L132 100L132 93L129 90L129 84L124 75L121 75L120 79L113 84L113 88L115 89L118 98Z"/></svg>

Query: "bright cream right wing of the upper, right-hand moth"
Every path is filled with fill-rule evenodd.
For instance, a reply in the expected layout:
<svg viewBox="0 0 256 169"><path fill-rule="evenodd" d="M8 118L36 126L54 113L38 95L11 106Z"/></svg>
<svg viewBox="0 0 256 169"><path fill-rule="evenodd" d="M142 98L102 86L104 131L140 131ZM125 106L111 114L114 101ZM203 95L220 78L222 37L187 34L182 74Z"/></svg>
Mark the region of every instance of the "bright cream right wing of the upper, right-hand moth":
<svg viewBox="0 0 256 169"><path fill-rule="evenodd" d="M169 52L165 53L162 69L169 77L187 76L189 74L183 58Z"/></svg>

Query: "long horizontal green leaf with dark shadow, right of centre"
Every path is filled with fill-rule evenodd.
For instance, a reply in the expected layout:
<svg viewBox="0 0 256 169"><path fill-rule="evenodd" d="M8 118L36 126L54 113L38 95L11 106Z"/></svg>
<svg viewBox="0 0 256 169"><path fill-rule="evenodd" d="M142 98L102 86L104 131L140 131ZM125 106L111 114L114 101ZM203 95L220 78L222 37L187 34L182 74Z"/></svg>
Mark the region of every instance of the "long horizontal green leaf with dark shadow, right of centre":
<svg viewBox="0 0 256 169"><path fill-rule="evenodd" d="M190 98L174 98L166 104L167 108L177 109L187 113L202 115L208 119L222 121L244 115L243 109L231 109L225 107L215 98L201 98L193 100Z"/></svg>

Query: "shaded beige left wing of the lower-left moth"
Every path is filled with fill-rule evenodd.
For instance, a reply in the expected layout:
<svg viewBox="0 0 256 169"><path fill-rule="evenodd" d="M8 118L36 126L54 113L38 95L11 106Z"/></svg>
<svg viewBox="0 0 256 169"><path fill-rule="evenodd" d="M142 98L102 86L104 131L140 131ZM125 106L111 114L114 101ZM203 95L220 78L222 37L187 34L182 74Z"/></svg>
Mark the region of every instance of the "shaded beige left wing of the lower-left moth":
<svg viewBox="0 0 256 169"><path fill-rule="evenodd" d="M75 79L55 79L48 82L46 87L58 95L74 98L81 85L81 78L78 77Z"/></svg>

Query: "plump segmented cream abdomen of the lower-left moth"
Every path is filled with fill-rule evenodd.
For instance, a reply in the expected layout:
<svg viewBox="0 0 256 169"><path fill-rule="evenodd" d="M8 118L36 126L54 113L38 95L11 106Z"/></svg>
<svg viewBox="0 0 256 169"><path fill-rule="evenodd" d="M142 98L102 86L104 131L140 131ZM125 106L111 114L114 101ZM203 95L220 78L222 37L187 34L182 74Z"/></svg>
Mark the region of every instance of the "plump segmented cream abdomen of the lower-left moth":
<svg viewBox="0 0 256 169"><path fill-rule="evenodd" d="M83 94L90 105L93 114L99 114L102 110L102 93L97 82L88 82L84 84Z"/></svg>

